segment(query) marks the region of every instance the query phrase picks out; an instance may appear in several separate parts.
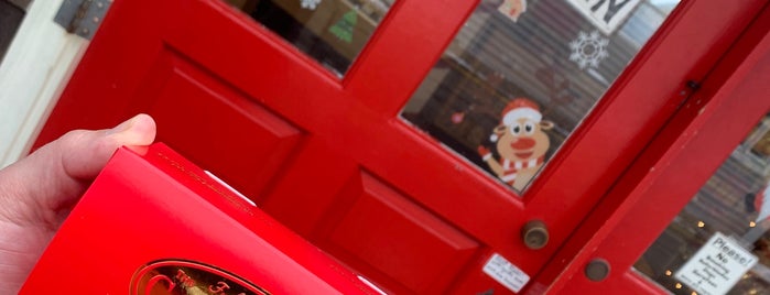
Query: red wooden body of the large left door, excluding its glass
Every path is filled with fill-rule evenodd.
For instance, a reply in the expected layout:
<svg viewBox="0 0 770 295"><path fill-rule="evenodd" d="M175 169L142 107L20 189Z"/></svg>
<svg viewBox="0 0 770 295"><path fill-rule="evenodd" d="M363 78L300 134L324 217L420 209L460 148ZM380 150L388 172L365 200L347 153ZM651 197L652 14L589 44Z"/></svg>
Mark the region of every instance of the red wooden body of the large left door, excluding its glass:
<svg viewBox="0 0 770 295"><path fill-rule="evenodd" d="M224 2L116 1L36 144L148 112L158 141L386 291L536 292L530 277L764 4L713 2L680 3L524 193L400 117L478 1L395 1L343 78ZM541 249L522 240L531 221Z"/></svg>

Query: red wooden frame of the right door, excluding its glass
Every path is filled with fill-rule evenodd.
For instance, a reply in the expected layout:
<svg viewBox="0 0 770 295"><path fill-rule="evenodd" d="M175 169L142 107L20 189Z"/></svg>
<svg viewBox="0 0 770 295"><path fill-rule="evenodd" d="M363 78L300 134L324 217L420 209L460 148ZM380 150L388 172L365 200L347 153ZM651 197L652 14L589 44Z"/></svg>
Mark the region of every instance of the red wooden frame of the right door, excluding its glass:
<svg viewBox="0 0 770 295"><path fill-rule="evenodd" d="M769 80L770 4L535 281L549 294L668 294L631 266L770 112ZM595 259L610 265L600 282L584 275Z"/></svg>

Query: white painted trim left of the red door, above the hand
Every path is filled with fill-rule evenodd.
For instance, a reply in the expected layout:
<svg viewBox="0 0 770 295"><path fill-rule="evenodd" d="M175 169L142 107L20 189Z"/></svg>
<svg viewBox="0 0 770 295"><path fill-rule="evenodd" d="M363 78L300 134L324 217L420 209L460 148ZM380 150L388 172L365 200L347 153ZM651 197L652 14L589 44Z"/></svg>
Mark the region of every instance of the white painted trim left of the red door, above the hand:
<svg viewBox="0 0 770 295"><path fill-rule="evenodd" d="M61 3L33 1L0 64L0 167L28 153L88 45L54 23Z"/></svg>

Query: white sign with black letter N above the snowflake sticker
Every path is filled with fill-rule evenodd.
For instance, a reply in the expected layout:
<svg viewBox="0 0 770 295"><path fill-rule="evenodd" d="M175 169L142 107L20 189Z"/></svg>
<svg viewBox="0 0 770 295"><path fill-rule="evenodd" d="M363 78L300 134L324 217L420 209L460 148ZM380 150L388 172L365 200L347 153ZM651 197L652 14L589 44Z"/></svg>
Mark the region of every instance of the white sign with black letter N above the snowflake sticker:
<svg viewBox="0 0 770 295"><path fill-rule="evenodd" d="M586 19L609 35L631 14L640 0L567 0Z"/></svg>

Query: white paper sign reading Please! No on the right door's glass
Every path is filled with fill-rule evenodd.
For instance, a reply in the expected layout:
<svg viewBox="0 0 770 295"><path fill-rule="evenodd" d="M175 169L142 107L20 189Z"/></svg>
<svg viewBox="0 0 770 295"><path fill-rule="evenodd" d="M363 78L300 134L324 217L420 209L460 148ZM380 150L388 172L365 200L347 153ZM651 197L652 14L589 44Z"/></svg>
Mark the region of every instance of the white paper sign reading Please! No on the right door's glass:
<svg viewBox="0 0 770 295"><path fill-rule="evenodd" d="M684 264L674 277L697 294L726 294L757 264L757 256L717 232Z"/></svg>

